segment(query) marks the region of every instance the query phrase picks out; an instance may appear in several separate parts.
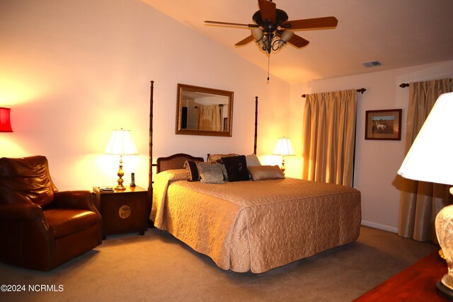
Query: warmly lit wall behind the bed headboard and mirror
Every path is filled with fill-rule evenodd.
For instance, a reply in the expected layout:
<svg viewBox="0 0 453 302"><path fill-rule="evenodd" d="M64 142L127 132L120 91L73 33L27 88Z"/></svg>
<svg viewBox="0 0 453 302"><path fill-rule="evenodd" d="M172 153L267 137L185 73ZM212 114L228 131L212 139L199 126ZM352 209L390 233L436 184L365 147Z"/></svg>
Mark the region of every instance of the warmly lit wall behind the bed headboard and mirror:
<svg viewBox="0 0 453 302"><path fill-rule="evenodd" d="M288 123L289 84L139 0L0 2L0 106L13 133L0 156L41 154L59 190L115 185L118 158L103 155L112 129L132 130L139 156L125 157L148 183L149 81L154 81L154 158L185 152L272 153ZM175 134L176 85L234 91L233 137Z"/></svg>

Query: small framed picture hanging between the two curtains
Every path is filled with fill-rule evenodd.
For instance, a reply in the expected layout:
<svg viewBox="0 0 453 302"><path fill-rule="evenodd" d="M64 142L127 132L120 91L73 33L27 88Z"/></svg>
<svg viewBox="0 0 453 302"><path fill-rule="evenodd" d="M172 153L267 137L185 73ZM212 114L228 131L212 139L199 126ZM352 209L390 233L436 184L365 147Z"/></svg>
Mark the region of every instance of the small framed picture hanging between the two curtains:
<svg viewBox="0 0 453 302"><path fill-rule="evenodd" d="M367 110L365 139L401 141L401 109Z"/></svg>

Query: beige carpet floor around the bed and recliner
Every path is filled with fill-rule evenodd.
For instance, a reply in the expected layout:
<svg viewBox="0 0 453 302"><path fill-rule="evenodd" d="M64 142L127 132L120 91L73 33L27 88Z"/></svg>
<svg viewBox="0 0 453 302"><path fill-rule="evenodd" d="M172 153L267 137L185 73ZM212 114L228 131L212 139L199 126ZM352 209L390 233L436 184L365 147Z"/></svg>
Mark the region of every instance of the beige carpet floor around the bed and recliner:
<svg viewBox="0 0 453 302"><path fill-rule="evenodd" d="M350 245L264 274L239 274L150 229L144 236L109 236L52 272L0 264L0 284L25 286L0 292L0 301L351 301L433 250L362 227Z"/></svg>

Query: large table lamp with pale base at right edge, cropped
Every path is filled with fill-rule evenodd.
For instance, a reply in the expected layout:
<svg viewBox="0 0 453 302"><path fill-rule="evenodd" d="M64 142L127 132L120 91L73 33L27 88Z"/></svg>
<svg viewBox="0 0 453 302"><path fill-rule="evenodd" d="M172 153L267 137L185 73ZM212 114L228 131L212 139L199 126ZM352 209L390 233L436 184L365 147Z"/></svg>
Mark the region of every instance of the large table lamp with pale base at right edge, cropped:
<svg viewBox="0 0 453 302"><path fill-rule="evenodd" d="M453 185L453 93L444 93L437 99L398 174ZM449 191L453 194L453 187ZM437 214L435 228L448 266L448 273L437 282L437 288L453 296L453 205Z"/></svg>

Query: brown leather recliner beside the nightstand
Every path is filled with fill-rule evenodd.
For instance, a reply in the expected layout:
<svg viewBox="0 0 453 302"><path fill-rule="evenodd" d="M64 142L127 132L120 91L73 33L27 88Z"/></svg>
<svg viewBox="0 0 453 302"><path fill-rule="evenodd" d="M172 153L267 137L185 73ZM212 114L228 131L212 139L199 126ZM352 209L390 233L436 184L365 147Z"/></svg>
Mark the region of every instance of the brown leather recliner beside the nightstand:
<svg viewBox="0 0 453 302"><path fill-rule="evenodd" d="M0 158L0 262L50 271L102 243L89 191L57 192L47 158Z"/></svg>

